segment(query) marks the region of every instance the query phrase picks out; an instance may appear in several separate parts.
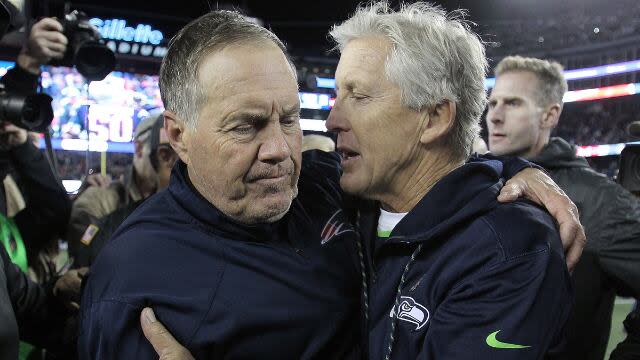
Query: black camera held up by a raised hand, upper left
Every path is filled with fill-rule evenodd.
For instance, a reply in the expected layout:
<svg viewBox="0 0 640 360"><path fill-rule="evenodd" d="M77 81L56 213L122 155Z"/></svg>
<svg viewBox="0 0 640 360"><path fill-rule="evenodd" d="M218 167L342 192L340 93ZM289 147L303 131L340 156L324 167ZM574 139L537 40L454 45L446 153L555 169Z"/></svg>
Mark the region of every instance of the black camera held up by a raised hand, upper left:
<svg viewBox="0 0 640 360"><path fill-rule="evenodd" d="M104 44L98 30L89 24L87 15L74 10L65 15L60 23L69 45L64 57L52 61L51 65L75 66L89 81L102 80L113 71L116 57Z"/></svg>

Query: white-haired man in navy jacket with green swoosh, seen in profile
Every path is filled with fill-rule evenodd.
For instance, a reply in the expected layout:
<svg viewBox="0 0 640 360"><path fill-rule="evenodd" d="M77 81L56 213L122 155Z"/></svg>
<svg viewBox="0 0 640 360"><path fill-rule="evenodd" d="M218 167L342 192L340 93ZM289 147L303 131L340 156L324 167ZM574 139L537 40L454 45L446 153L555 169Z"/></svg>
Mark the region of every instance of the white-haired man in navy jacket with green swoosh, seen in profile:
<svg viewBox="0 0 640 360"><path fill-rule="evenodd" d="M426 3L359 9L327 128L342 189L367 201L370 359L542 359L572 292L553 219L499 204L502 165L466 162L486 103L480 39Z"/></svg>

